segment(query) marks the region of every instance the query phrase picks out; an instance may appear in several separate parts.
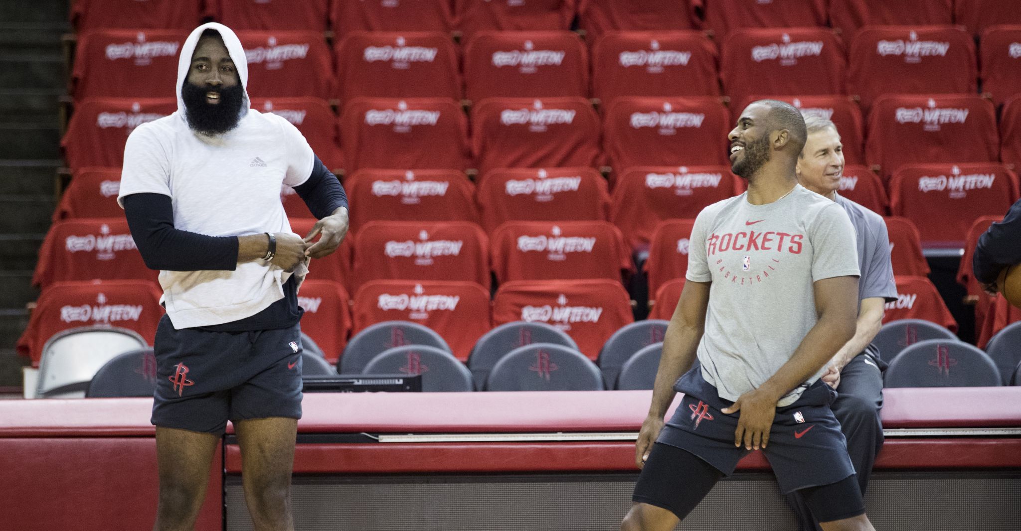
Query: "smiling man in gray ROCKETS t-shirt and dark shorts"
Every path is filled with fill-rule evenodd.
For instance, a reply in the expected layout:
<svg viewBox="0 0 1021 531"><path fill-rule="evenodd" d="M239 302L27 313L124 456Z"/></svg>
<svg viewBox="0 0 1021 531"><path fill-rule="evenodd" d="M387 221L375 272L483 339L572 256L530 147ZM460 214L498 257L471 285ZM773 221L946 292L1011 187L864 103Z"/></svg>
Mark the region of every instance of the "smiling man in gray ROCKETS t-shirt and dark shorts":
<svg viewBox="0 0 1021 531"><path fill-rule="evenodd" d="M748 105L730 131L748 191L695 220L623 530L674 529L760 448L781 491L799 491L824 530L873 530L830 410L836 392L820 380L855 331L855 231L839 205L797 183L806 138L797 109L775 100Z"/></svg>

